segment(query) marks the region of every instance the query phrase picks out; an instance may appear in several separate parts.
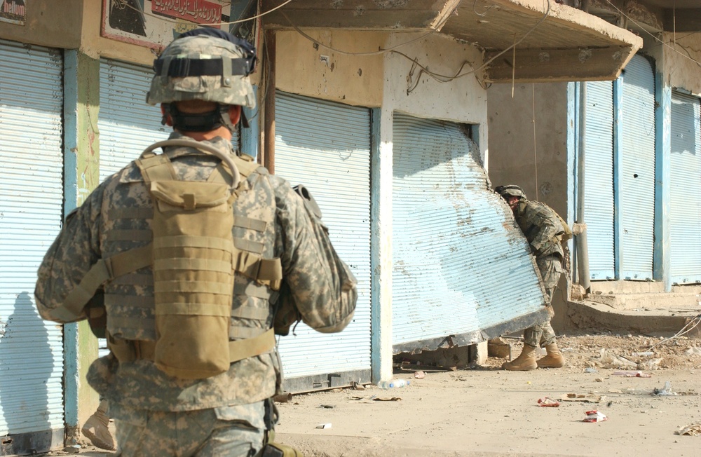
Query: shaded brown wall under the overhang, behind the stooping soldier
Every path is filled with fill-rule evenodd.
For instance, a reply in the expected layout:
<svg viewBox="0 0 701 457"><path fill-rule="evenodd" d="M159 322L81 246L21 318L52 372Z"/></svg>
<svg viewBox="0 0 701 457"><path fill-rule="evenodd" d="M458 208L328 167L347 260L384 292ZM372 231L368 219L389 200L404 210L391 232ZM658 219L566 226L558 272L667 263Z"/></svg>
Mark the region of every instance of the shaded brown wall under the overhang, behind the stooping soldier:
<svg viewBox="0 0 701 457"><path fill-rule="evenodd" d="M511 89L510 84L494 84L486 91L489 178L494 186L519 184L529 198L566 217L567 83L517 84L513 98Z"/></svg>

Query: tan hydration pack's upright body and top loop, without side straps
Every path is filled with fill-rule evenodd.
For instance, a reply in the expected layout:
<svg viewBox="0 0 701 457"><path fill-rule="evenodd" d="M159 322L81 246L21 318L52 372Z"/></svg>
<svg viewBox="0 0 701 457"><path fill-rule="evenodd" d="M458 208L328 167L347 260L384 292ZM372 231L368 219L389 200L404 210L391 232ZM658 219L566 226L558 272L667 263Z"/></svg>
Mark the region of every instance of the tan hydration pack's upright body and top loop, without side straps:
<svg viewBox="0 0 701 457"><path fill-rule="evenodd" d="M217 149L182 145L222 158L233 183L180 181L167 156L149 154L154 146L136 161L154 205L154 362L171 376L207 378L231 364L231 205L240 174L231 158Z"/></svg>

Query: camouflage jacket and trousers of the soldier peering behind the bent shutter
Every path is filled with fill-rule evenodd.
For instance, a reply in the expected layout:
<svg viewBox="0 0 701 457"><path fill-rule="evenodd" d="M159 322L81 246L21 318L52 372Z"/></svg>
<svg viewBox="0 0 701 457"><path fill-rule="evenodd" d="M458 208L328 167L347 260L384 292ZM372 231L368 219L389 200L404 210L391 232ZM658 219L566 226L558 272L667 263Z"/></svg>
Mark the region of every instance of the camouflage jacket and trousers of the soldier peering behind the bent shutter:
<svg viewBox="0 0 701 457"><path fill-rule="evenodd" d="M550 301L562 275L564 252L559 236L564 233L564 227L550 207L526 198L519 201L514 216L531 246L531 252L536 256L536 264L547 295L548 311L552 317ZM536 348L554 343L555 332L550 321L526 329L524 342Z"/></svg>

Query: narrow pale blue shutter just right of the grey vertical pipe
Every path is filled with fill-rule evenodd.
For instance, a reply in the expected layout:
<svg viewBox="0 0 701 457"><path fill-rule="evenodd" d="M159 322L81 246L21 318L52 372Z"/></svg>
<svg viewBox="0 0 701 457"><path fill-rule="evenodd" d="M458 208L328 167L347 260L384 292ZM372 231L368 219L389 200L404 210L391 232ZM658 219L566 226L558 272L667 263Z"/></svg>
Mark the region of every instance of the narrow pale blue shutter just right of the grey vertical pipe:
<svg viewBox="0 0 701 457"><path fill-rule="evenodd" d="M615 278L613 257L613 83L587 84L584 220L592 280Z"/></svg>

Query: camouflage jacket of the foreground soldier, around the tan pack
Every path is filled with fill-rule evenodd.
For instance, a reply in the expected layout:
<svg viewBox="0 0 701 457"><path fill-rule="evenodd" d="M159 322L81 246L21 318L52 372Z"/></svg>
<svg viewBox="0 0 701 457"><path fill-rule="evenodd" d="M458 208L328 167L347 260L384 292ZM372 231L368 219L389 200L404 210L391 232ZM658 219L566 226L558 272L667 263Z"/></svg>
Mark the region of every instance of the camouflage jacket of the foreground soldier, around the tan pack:
<svg viewBox="0 0 701 457"><path fill-rule="evenodd" d="M183 135L173 133L170 138ZM213 139L210 144L233 154L224 139ZM165 154L180 179L207 179L219 162L184 147L167 147ZM280 258L283 283L289 286L290 299L307 325L320 332L341 331L353 318L355 278L336 256L304 200L284 179L269 175L264 168L258 170L240 184L234 214L266 223L262 227L235 226L234 238L248 242L250 249L257 246L261 257ZM39 268L35 294L41 316L49 318L50 310L60 306L97 259L147 245L152 211L149 192L134 163L100 184L67 218ZM151 268L108 282L104 292L110 334L128 340L156 338ZM269 296L265 287L237 274L232 332L259 334L270 328L273 306ZM279 392L281 381L275 350L235 362L229 371L203 380L168 376L149 360L119 364L109 356L94 362L88 373L90 386L111 405L149 411L259 402Z"/></svg>

